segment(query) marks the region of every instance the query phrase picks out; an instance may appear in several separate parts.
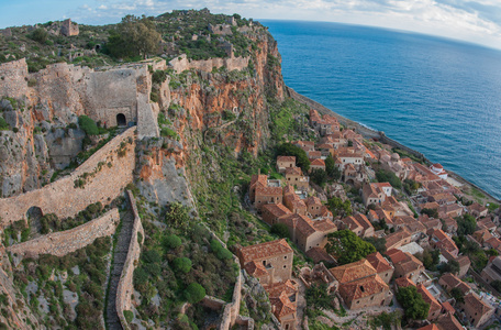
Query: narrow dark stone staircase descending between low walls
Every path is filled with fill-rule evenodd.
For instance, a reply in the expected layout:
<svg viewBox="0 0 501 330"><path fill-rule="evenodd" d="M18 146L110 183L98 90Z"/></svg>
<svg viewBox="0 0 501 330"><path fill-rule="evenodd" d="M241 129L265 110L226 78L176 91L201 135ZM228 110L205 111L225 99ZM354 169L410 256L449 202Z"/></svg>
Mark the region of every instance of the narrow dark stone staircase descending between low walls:
<svg viewBox="0 0 501 330"><path fill-rule="evenodd" d="M113 264L111 265L109 295L107 306L107 329L122 330L119 316L116 314L116 289L119 287L120 276L122 275L123 265L127 257L129 245L131 243L132 227L134 216L127 211L122 219L122 229L119 233L116 246L113 251Z"/></svg>

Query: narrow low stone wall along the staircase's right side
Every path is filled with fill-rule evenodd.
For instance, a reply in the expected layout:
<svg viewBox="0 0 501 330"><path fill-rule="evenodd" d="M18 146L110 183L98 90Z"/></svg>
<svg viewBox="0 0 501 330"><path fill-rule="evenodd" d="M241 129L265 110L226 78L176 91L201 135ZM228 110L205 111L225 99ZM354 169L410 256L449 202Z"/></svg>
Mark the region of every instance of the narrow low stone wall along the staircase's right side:
<svg viewBox="0 0 501 330"><path fill-rule="evenodd" d="M120 277L119 287L116 289L116 312L119 315L119 319L122 323L123 329L130 329L123 311L132 309L131 294L134 292L132 279L137 261L140 260L141 245L144 242L143 224L141 223L135 198L130 190L127 190L127 197L131 202L132 212L134 215L134 224L132 227L132 235L131 243L129 245L127 257L125 260L125 264L123 265L122 276ZM141 233L141 242L138 239L138 233Z"/></svg>

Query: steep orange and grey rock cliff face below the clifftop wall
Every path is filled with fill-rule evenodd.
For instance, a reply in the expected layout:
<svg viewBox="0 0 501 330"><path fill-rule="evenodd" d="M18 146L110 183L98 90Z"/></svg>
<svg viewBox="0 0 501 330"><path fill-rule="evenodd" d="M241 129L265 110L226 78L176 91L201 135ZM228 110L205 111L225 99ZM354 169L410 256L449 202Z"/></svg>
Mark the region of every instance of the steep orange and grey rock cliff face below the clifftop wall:
<svg viewBox="0 0 501 330"><path fill-rule="evenodd" d="M237 156L243 152L257 155L268 145L268 99L283 100L283 80L275 40L266 33L255 41L258 47L248 69L190 70L170 77L170 87L160 86L158 111L179 138L142 144L138 186L151 201L191 205L190 186L224 176L215 164L203 165L202 157L209 156L204 147L218 145Z"/></svg>

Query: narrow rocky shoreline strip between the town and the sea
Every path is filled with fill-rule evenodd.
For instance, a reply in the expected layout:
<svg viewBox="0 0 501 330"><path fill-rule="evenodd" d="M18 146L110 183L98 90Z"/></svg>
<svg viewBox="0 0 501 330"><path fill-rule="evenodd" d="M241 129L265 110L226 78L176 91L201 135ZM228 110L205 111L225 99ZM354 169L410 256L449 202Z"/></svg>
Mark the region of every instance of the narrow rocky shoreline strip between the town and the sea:
<svg viewBox="0 0 501 330"><path fill-rule="evenodd" d="M385 132L381 132L381 131L376 131L376 130L372 130L372 129L369 129L368 127L366 125L363 125L356 121L353 121L346 117L343 117L336 112L334 112L333 110L326 108L325 106L323 106L322 103L319 103L299 92L297 92L296 90L293 90L292 88L290 88L289 86L286 85L286 91L287 91L287 95L301 102L301 103L304 103L307 105L308 107L319 111L319 113L321 114L331 114L331 116L334 116L335 118L337 118L337 121L345 125L345 127L349 127L352 129L355 129L358 133L360 133L365 139L377 139L378 141L385 143L385 144L389 144L391 145L392 147L398 147L402 151L405 151L414 156L416 156L417 158L421 158L424 161L425 164L427 165L432 165L433 163L426 158L426 156L407 145L403 145L402 143L391 139L391 138L388 138ZM470 188L475 188L477 190L479 190L481 194L483 194L486 196L486 199L489 199L489 201L493 201L493 202L497 202L497 204L501 204L501 199L498 199L496 197L493 197L490 193L486 191L483 188L479 187L478 185L467 180L466 178L461 177L460 175L458 175L457 173L455 172L452 172L449 169L447 169L447 173L449 174L449 176L454 179L456 179L457 182L459 182L460 184L463 185L466 185L466 186L469 186Z"/></svg>

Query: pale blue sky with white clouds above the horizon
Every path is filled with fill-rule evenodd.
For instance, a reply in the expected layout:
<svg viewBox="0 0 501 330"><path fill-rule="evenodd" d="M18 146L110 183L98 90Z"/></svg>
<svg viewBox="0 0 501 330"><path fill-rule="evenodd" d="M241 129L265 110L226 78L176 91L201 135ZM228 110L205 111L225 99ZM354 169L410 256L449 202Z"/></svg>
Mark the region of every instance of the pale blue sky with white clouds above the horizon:
<svg viewBox="0 0 501 330"><path fill-rule="evenodd" d="M71 18L118 23L125 14L157 15L209 8L245 18L331 21L412 31L501 48L501 0L0 0L0 29Z"/></svg>

